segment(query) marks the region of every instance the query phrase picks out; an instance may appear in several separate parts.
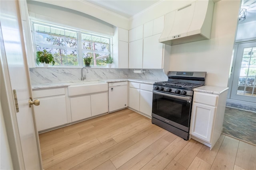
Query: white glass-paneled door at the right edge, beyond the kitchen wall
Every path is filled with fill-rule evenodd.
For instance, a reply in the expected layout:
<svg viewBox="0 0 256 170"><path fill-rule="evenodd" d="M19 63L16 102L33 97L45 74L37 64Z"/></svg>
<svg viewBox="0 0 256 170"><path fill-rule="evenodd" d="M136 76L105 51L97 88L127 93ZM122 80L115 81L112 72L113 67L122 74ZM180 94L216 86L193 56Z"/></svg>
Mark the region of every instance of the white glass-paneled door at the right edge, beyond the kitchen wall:
<svg viewBox="0 0 256 170"><path fill-rule="evenodd" d="M238 45L231 98L256 102L256 42Z"/></svg>

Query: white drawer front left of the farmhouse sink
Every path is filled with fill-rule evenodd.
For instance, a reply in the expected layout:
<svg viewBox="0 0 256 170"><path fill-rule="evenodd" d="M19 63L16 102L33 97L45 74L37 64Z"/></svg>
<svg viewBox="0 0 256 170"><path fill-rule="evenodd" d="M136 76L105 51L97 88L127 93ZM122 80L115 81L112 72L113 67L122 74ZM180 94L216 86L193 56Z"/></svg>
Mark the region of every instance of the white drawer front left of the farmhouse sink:
<svg viewBox="0 0 256 170"><path fill-rule="evenodd" d="M56 89L33 91L33 97L34 98L58 96L58 95L62 95L62 94L65 94L65 88L56 88Z"/></svg>

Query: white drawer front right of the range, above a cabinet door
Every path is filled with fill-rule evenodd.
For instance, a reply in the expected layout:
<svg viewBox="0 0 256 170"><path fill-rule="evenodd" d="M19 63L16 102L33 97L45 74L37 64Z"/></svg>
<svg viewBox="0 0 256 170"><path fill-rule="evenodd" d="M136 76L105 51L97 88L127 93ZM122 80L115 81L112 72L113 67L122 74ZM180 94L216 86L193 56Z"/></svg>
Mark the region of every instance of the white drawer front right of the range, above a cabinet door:
<svg viewBox="0 0 256 170"><path fill-rule="evenodd" d="M194 92L194 102L216 106L218 95Z"/></svg>

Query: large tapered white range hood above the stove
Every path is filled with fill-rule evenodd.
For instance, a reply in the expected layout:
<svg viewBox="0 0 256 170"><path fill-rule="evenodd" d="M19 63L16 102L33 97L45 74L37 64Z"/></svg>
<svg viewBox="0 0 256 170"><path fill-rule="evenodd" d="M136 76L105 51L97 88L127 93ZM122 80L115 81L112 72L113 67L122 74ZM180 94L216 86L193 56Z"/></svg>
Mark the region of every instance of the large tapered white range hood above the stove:
<svg viewBox="0 0 256 170"><path fill-rule="evenodd" d="M160 43L177 45L210 39L212 0L197 0L165 16Z"/></svg>

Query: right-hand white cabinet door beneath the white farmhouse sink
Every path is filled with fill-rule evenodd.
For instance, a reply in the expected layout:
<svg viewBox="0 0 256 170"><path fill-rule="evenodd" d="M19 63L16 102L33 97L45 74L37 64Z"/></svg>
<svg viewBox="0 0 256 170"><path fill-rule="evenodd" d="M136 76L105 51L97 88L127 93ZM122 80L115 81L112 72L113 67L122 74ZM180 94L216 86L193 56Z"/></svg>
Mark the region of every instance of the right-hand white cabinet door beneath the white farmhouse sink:
<svg viewBox="0 0 256 170"><path fill-rule="evenodd" d="M91 95L92 116L108 112L108 93Z"/></svg>

